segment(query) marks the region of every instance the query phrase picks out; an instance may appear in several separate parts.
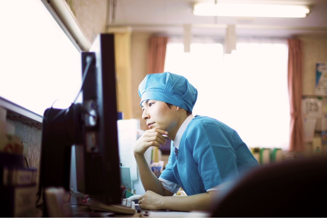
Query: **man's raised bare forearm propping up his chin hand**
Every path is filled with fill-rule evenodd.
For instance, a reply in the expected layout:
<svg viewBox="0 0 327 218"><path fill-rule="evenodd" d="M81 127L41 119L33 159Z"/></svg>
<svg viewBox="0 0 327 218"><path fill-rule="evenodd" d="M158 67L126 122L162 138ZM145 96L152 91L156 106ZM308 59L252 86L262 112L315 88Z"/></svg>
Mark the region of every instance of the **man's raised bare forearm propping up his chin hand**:
<svg viewBox="0 0 327 218"><path fill-rule="evenodd" d="M135 160L145 191L150 190L162 196L169 196L170 194L173 195L173 193L170 193L163 188L163 184L151 171L144 156L135 155Z"/></svg>

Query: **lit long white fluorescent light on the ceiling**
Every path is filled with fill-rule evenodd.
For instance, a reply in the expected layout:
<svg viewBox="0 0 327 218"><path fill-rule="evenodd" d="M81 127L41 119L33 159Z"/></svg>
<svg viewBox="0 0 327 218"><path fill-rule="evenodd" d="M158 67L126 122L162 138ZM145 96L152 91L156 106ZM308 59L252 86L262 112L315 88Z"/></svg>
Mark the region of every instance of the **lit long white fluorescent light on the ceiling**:
<svg viewBox="0 0 327 218"><path fill-rule="evenodd" d="M310 9L304 5L196 3L193 14L234 17L306 17Z"/></svg>

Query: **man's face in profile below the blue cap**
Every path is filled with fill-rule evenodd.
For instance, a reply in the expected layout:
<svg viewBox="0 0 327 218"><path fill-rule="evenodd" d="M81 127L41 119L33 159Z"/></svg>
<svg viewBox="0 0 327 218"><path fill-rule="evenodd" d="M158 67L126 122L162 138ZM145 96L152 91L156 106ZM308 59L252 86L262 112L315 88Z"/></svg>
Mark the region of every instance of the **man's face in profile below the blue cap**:
<svg viewBox="0 0 327 218"><path fill-rule="evenodd" d="M142 109L142 119L149 129L158 127L169 132L177 124L176 106L169 108L165 102L146 100L142 102Z"/></svg>

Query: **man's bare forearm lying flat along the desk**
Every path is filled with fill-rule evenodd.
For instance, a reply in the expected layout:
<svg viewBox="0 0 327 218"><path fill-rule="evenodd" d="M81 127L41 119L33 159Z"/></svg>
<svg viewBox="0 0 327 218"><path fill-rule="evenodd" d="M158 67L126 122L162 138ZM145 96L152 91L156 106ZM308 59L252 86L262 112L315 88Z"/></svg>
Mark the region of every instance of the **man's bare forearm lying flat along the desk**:
<svg viewBox="0 0 327 218"><path fill-rule="evenodd" d="M215 192L201 193L190 196L165 196L162 199L162 208L166 210L191 211L205 210L209 211L212 207L212 195Z"/></svg>

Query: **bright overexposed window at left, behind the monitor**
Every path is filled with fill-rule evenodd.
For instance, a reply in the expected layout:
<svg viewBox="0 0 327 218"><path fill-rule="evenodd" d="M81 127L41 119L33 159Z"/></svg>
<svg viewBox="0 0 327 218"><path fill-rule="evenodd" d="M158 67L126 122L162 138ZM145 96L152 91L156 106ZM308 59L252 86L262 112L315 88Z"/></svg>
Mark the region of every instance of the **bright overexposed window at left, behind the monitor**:
<svg viewBox="0 0 327 218"><path fill-rule="evenodd" d="M0 2L0 96L43 116L81 85L80 53L42 1Z"/></svg>

